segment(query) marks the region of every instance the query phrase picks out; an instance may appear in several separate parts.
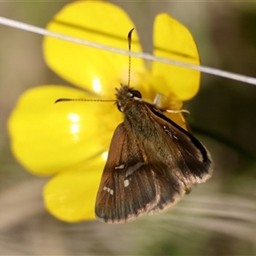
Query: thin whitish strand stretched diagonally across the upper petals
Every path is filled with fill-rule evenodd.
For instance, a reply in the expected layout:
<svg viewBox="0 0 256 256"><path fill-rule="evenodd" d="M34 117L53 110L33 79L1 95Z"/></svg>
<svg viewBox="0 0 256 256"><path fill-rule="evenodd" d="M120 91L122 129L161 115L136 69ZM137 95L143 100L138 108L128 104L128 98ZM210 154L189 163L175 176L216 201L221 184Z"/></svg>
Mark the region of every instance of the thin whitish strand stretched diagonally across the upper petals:
<svg viewBox="0 0 256 256"><path fill-rule="evenodd" d="M112 51L115 53L119 53L121 55L131 55L133 57L141 58L141 59L148 60L148 61L159 61L159 62L166 63L169 65L175 65L175 66L179 66L179 67L187 67L187 68L201 71L202 73L209 73L209 74L223 77L226 79L233 79L233 80L241 81L241 82L244 82L247 84L256 85L256 79L253 77L249 77L249 76L245 76L245 75L241 75L241 74L237 74L237 73L231 73L231 72L223 71L223 70L220 70L217 68L198 66L198 65L194 65L194 64L185 63L182 61L174 61L174 60L150 55L147 53L137 53L137 52L132 52L132 51L130 52L129 50L118 49L118 48L110 47L110 46L107 46L104 44L97 44L97 43L90 42L87 40L69 37L69 36L66 36L66 35L63 35L60 33L56 33L56 32L50 32L50 31L48 31L44 28L38 27L38 26L32 26L32 25L29 25L29 24L26 24L26 23L23 23L20 21L10 20L10 19L7 19L7 18L1 17L1 16L0 16L0 24L2 24L4 26L15 27L15 28L25 30L28 32L38 33L38 34L41 34L44 36L49 36L52 38L59 38L61 40L66 40L66 41L73 42L76 44L84 44L86 46L90 46L93 48Z"/></svg>

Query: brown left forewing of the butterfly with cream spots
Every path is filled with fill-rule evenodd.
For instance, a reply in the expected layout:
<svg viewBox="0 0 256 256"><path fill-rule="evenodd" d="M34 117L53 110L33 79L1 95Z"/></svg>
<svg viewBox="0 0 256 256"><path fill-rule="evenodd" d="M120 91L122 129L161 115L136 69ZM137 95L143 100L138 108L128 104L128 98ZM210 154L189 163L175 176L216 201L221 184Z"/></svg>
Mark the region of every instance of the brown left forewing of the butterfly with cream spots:
<svg viewBox="0 0 256 256"><path fill-rule="evenodd" d="M124 124L113 134L96 198L96 217L108 223L128 222L158 203L159 186L137 141Z"/></svg>

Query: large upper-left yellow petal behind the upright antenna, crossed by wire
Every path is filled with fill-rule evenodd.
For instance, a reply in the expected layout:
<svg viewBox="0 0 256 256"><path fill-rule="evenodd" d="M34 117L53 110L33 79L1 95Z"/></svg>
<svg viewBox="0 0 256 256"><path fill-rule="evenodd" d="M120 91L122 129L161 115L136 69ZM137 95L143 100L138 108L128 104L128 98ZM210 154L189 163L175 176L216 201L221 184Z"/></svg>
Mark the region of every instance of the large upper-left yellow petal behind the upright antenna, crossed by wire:
<svg viewBox="0 0 256 256"><path fill-rule="evenodd" d="M134 24L112 3L77 1L55 15L47 29L74 38L128 49L127 34ZM141 51L137 32L132 33L132 50ZM44 40L45 60L56 73L73 84L113 98L113 89L127 84L128 56L90 48L55 38ZM132 59L132 71L142 72L143 60ZM136 80L136 79L135 79Z"/></svg>

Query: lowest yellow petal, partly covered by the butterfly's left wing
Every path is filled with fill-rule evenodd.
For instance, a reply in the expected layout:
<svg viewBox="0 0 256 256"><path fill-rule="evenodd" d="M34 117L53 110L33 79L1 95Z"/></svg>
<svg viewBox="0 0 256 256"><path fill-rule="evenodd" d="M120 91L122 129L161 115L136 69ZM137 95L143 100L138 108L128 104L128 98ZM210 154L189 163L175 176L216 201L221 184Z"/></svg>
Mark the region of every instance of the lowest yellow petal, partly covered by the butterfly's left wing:
<svg viewBox="0 0 256 256"><path fill-rule="evenodd" d="M51 178L44 187L44 203L49 212L68 222L95 218L102 169L103 165L83 161Z"/></svg>

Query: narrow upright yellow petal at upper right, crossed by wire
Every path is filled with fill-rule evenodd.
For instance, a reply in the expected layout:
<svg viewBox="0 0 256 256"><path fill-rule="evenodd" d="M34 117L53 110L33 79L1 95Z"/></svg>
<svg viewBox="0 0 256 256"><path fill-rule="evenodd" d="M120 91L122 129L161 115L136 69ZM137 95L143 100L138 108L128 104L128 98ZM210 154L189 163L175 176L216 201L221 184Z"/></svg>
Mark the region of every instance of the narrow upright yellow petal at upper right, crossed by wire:
<svg viewBox="0 0 256 256"><path fill-rule="evenodd" d="M154 21L154 55L187 63L200 64L194 38L189 30L167 14ZM152 66L154 90L173 100L186 101L199 90L200 72L160 62Z"/></svg>

